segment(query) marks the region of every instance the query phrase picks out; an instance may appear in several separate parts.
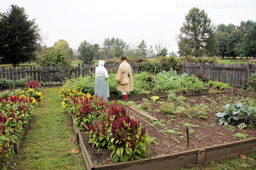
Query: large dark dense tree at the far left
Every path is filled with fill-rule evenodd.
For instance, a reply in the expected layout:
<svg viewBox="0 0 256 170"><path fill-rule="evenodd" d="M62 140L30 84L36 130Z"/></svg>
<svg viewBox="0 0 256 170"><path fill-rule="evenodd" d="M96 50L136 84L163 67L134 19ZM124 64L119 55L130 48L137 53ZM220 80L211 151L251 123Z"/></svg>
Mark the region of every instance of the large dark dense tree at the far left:
<svg viewBox="0 0 256 170"><path fill-rule="evenodd" d="M38 26L27 20L24 8L11 5L0 17L0 57L15 67L18 62L35 58Z"/></svg>

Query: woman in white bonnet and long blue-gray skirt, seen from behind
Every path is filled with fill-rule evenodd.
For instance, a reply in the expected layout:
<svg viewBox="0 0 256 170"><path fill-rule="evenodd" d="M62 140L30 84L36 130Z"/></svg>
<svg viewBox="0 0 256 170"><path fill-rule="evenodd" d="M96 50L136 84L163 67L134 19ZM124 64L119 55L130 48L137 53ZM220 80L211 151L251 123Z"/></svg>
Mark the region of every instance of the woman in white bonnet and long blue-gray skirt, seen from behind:
<svg viewBox="0 0 256 170"><path fill-rule="evenodd" d="M94 95L102 97L105 101L109 97L108 73L104 67L104 61L98 60L98 66L95 69Z"/></svg>

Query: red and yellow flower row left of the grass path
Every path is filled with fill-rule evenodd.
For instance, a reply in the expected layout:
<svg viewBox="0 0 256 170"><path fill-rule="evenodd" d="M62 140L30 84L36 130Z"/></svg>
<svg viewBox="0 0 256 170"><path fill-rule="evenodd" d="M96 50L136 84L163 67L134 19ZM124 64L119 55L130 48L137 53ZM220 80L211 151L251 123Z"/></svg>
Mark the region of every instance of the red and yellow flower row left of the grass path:
<svg viewBox="0 0 256 170"><path fill-rule="evenodd" d="M42 97L41 85L37 81L27 82L25 90L0 94L0 168L8 167L13 154L17 153L20 135Z"/></svg>

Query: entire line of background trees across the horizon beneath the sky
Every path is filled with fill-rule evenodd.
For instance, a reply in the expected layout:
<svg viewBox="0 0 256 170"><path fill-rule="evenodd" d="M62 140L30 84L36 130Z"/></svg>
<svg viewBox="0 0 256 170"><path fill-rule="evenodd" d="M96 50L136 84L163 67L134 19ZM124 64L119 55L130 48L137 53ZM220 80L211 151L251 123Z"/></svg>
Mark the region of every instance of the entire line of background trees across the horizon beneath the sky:
<svg viewBox="0 0 256 170"><path fill-rule="evenodd" d="M118 37L107 37L102 44L83 40L76 50L63 39L53 46L41 45L42 37L35 20L28 20L24 8L17 5L0 13L0 60L19 62L36 60L41 66L70 65L71 59L78 58L87 64L93 59L112 59L121 55L128 58L177 56L169 52L164 43L147 45L141 40L138 45L128 44ZM241 21L240 25L214 25L204 10L193 7L185 15L185 20L177 35L179 56L229 57L256 56L256 22Z"/></svg>

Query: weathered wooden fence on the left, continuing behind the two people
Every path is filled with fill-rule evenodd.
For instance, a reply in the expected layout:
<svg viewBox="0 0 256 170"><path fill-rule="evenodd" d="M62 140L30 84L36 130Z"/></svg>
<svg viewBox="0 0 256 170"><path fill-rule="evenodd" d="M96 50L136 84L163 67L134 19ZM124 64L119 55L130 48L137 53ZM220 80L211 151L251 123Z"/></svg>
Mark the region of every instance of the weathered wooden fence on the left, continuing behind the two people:
<svg viewBox="0 0 256 170"><path fill-rule="evenodd" d="M118 68L119 64L109 63L104 65L105 68ZM19 80L30 78L31 80L37 80L41 82L53 82L62 81L64 77L74 77L91 75L95 73L96 65L93 64L78 64L77 66L29 66L29 67L1 67L0 79ZM131 68L135 69L136 65L132 64Z"/></svg>

